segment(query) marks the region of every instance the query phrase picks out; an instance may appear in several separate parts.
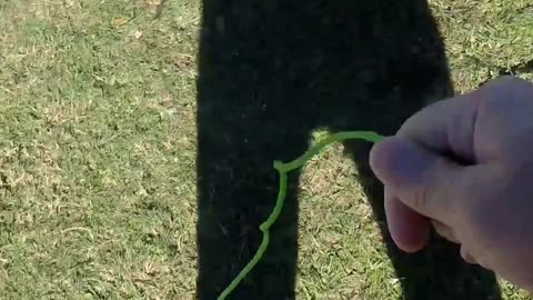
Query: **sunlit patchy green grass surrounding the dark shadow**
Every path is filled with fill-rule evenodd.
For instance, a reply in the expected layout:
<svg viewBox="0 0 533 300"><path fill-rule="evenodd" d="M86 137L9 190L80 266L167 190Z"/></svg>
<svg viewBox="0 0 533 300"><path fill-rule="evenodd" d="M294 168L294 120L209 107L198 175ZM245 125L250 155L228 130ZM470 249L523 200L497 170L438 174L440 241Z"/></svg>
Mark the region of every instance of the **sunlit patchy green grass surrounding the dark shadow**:
<svg viewBox="0 0 533 300"><path fill-rule="evenodd" d="M1 299L195 297L201 3L160 4L0 2ZM533 78L533 1L430 6L457 91L506 71ZM218 28L232 34L228 26ZM222 162L217 168L232 169ZM275 176L270 167L258 172ZM394 273L356 173L342 146L302 171L298 299L402 297L403 279ZM253 226L221 227L213 234L229 230L259 238ZM224 276L237 274L255 247L237 241L234 249L218 249L222 258L240 256ZM276 270L263 269L259 283L247 284L275 278ZM501 288L505 300L533 299L510 284Z"/></svg>

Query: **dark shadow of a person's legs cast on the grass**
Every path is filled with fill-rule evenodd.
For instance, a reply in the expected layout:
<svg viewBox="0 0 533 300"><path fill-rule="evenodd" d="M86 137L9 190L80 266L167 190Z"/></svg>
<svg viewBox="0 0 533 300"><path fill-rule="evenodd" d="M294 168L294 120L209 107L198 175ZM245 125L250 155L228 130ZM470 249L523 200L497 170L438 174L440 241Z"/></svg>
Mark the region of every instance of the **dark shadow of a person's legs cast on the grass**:
<svg viewBox="0 0 533 300"><path fill-rule="evenodd" d="M203 0L198 81L198 299L215 299L261 240L291 160L319 127L394 133L453 93L443 44L422 0ZM370 146L346 144L401 278L404 298L500 299L494 276L435 239L406 256L391 242ZM264 260L230 299L294 299L298 174Z"/></svg>

